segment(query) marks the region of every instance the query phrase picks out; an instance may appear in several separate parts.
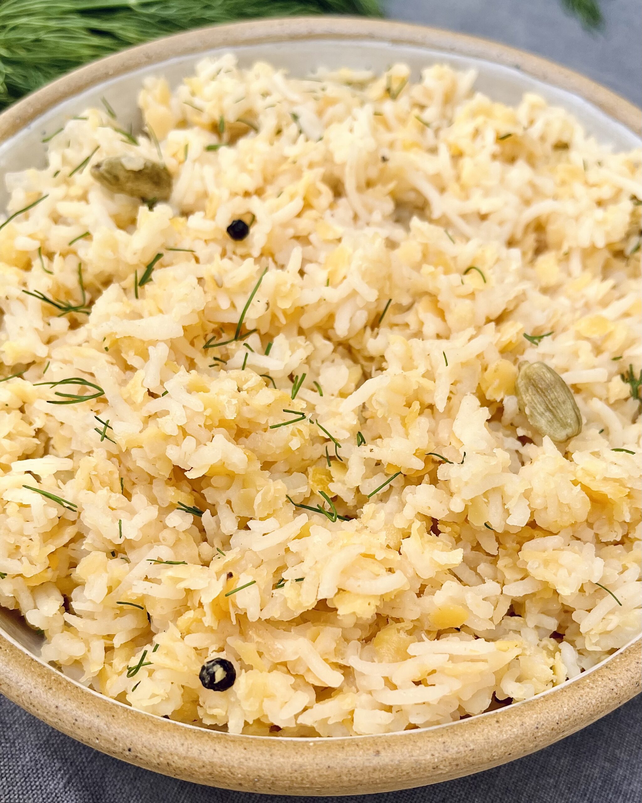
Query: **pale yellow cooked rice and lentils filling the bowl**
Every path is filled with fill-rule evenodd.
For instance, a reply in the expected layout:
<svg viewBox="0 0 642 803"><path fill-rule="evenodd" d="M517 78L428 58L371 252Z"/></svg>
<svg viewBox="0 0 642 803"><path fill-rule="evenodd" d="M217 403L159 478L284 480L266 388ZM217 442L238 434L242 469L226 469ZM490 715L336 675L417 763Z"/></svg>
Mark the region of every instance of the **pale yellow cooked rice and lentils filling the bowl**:
<svg viewBox="0 0 642 803"><path fill-rule="evenodd" d="M47 661L182 722L344 736L529 698L640 632L640 153L474 77L226 55L140 93L171 202L83 167L159 159L102 108L7 177L7 214L47 198L0 230L0 603ZM23 292L79 305L79 263L91 314ZM518 409L522 360L571 386L570 442ZM95 393L43 384L69 377L104 393L51 404ZM199 682L217 656L229 691Z"/></svg>

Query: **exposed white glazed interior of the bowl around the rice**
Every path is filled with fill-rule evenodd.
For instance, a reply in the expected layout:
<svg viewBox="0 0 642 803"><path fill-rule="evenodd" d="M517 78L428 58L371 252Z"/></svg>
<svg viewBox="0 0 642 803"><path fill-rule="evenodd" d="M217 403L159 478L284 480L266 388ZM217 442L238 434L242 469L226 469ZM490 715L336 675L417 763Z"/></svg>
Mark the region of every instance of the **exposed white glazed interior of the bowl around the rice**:
<svg viewBox="0 0 642 803"><path fill-rule="evenodd" d="M221 55L230 48L217 47L199 51L190 55L178 56L166 61L120 75L113 79L96 84L91 89L80 92L55 108L45 112L0 144L0 173L14 173L28 167L43 167L46 162L46 147L42 139L60 128L71 116L83 112L90 106L100 106L100 99L106 98L116 110L121 124L132 123L133 128L140 127L140 112L136 106L136 98L142 80L147 75L165 75L173 86L179 84L185 75L193 71L194 65L207 55ZM284 67L291 75L303 77L319 68L353 67L384 71L395 62L407 63L412 73L418 77L424 67L434 63L445 63L467 70L477 70L475 88L486 95L507 104L518 104L524 92L537 92L551 104L566 108L582 122L588 132L602 142L611 145L614 150L628 150L642 145L640 138L624 125L607 116L599 108L587 100L544 84L538 79L519 71L515 67L504 67L500 64L476 59L470 56L453 55L428 47L417 47L376 40L326 39L311 37L297 41L270 43L254 43L234 47L241 66L250 66L256 61L266 61L278 67ZM0 184L0 209L7 202L4 180ZM0 633L10 641L22 646L24 650L39 658L42 637L31 630L26 622L15 612L0 608ZM67 673L66 673L67 674ZM74 673L70 673L73 675Z"/></svg>

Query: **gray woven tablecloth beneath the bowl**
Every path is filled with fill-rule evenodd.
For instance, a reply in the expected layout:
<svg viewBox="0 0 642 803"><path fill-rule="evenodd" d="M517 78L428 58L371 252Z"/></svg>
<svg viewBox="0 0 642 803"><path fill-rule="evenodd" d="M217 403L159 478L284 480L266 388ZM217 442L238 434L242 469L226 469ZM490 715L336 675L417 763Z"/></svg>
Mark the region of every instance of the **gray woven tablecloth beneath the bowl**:
<svg viewBox="0 0 642 803"><path fill-rule="evenodd" d="M601 0L602 33L559 0L388 0L388 16L497 39L544 55L642 102L640 0ZM512 764L368 803L639 803L642 697L563 742ZM0 699L2 803L278 803L174 781L102 756ZM312 800L312 799L311 799ZM315 798L330 801L331 798ZM346 801L360 801L358 797Z"/></svg>

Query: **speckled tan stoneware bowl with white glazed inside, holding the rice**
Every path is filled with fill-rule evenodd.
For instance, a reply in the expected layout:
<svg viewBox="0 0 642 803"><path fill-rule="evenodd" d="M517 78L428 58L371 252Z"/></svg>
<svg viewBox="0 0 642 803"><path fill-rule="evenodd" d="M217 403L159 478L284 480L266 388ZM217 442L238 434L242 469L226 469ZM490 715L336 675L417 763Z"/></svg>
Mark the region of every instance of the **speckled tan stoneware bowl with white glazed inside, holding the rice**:
<svg viewBox="0 0 642 803"><path fill-rule="evenodd" d="M150 73L178 82L203 55L234 51L306 75L316 67L418 73L435 62L475 67L477 88L515 104L535 91L600 141L640 145L640 112L581 75L467 36L388 21L299 18L245 22L161 39L90 64L0 115L0 173L44 163L43 132L105 96L136 126ZM0 207L6 202L0 189ZM231 736L136 711L83 687L39 658L39 637L0 609L0 691L54 728L111 756L188 781L252 792L343 795L446 781L513 760L583 728L640 691L640 639L578 678L523 703L433 728L332 739Z"/></svg>

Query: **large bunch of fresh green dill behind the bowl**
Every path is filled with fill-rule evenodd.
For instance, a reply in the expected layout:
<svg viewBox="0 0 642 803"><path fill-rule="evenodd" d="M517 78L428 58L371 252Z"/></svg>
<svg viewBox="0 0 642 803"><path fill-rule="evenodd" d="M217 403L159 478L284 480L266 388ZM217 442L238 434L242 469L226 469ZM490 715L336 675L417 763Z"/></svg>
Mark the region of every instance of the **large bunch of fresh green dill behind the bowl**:
<svg viewBox="0 0 642 803"><path fill-rule="evenodd" d="M379 0L0 0L0 108L84 63L221 22L379 15Z"/></svg>

